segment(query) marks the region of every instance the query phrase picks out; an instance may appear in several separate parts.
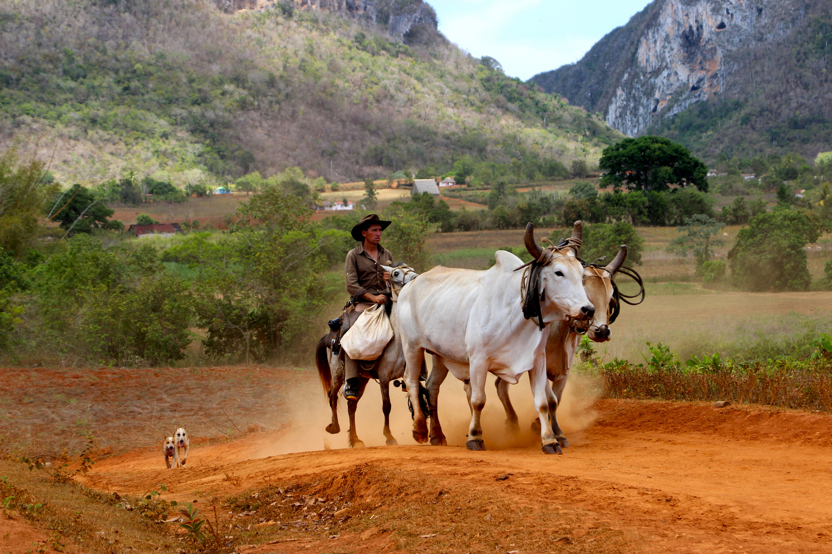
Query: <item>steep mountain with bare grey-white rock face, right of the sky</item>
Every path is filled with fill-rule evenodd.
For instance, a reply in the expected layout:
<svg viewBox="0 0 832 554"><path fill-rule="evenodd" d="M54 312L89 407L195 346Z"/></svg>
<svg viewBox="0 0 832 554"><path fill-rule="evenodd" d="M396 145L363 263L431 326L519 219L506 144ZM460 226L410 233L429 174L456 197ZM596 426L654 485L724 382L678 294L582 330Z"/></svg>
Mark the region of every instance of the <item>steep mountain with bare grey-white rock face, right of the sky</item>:
<svg viewBox="0 0 832 554"><path fill-rule="evenodd" d="M654 0L582 60L532 77L626 135L697 154L832 148L832 3Z"/></svg>

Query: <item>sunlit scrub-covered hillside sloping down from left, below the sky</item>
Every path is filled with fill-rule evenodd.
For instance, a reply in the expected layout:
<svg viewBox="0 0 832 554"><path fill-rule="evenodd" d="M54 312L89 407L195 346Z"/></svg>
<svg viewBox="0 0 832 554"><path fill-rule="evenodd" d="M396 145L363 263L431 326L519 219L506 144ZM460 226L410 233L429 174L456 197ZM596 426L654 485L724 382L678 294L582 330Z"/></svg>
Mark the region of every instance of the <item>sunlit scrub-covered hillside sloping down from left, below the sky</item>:
<svg viewBox="0 0 832 554"><path fill-rule="evenodd" d="M67 184L134 171L181 187L291 166L332 181L438 173L459 159L551 176L621 136L460 51L435 17L399 42L390 10L418 0L387 2L373 25L296 7L307 2L235 9L263 3L2 0L2 145L37 144Z"/></svg>

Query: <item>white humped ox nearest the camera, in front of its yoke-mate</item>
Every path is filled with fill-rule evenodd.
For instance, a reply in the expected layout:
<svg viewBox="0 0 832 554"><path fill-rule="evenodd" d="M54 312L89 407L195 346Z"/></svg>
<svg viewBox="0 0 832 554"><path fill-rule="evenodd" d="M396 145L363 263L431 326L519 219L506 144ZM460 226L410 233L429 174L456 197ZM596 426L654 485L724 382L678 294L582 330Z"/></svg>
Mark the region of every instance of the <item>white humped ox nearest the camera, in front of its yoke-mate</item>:
<svg viewBox="0 0 832 554"><path fill-rule="evenodd" d="M540 301L542 324L592 318L595 308L583 288L583 267L570 248L550 251L534 241L534 225L526 227L526 248L541 265L533 293ZM434 267L399 295L398 332L404 349L410 403L414 408L414 439L428 441L426 415L418 402L418 377L424 353L438 357L459 380L471 385L468 449L483 450L480 414L485 406L485 380L491 372L516 384L529 372L544 453L556 453L547 400L546 342L534 318L522 313L522 260L498 251L487 271Z"/></svg>

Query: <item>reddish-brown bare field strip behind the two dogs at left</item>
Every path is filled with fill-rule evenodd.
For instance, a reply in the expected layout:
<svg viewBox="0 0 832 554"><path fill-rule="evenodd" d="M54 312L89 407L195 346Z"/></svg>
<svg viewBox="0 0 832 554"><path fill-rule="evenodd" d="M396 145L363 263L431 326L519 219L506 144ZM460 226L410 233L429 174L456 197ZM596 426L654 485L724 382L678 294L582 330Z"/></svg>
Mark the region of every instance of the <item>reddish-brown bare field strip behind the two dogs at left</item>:
<svg viewBox="0 0 832 554"><path fill-rule="evenodd" d="M77 451L88 435L107 452L120 452L159 445L177 427L208 438L235 436L251 425L277 429L290 419L295 395L313 394L305 372L256 366L2 369L0 375L6 444L45 460Z"/></svg>

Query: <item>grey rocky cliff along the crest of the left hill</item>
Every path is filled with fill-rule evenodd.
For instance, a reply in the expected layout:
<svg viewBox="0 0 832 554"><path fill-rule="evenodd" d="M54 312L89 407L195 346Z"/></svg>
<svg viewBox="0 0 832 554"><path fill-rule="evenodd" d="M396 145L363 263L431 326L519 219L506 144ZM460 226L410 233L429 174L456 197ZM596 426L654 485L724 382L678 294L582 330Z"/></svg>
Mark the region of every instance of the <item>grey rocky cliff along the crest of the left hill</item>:
<svg viewBox="0 0 832 554"><path fill-rule="evenodd" d="M215 0L226 12L241 9L274 9L278 0ZM390 37L407 42L415 27L436 30L436 12L422 0L290 0L295 9L335 13L361 22Z"/></svg>

